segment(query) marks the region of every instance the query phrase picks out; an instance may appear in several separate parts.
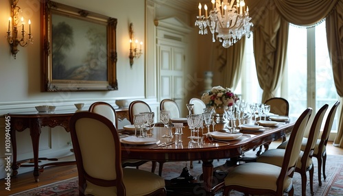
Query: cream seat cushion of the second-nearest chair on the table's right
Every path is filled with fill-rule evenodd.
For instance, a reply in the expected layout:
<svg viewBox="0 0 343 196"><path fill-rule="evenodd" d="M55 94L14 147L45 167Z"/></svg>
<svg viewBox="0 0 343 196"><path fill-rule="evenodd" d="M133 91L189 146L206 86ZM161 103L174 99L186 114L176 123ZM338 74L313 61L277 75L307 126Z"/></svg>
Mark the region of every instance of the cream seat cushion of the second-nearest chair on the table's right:
<svg viewBox="0 0 343 196"><path fill-rule="evenodd" d="M303 154L304 151L300 151L298 161L296 162L296 167L298 169L301 168L301 158L303 157ZM283 156L285 156L285 149L269 149L268 151L264 151L263 154L257 158L257 162L265 162L281 167ZM306 167L310 167L311 165L312 159L307 158Z"/></svg>

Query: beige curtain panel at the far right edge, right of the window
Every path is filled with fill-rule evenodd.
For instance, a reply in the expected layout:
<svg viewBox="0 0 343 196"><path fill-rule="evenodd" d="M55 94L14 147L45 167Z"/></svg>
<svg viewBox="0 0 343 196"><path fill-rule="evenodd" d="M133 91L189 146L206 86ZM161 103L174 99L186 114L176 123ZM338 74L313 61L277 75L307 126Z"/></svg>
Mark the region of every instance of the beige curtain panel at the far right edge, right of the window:
<svg viewBox="0 0 343 196"><path fill-rule="evenodd" d="M333 69L333 79L338 95L340 107L343 104L343 2L339 1L333 12L327 16L327 45ZM343 147L343 110L340 113L338 136L333 141L334 145Z"/></svg>

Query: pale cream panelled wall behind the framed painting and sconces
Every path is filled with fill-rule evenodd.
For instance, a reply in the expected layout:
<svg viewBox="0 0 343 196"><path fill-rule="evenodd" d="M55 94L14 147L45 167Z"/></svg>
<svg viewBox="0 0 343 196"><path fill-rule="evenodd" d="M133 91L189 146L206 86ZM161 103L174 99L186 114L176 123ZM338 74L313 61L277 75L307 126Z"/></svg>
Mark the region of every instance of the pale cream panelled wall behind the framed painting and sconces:
<svg viewBox="0 0 343 196"><path fill-rule="evenodd" d="M34 43L19 47L16 59L10 53L10 45L5 38L10 17L10 1L0 1L0 177L5 176L4 143L5 120L1 117L8 112L32 110L39 104L56 105L58 109L74 108L73 103L84 102L85 107L93 101L108 101L115 106L115 99L144 99L144 56L134 59L132 69L129 63L130 23L134 24L135 36L144 40L145 1L142 0L57 0L58 3L97 12L118 19L117 24L117 80L119 90L106 92L40 92L40 1L21 0L18 6L23 10L24 19L32 21ZM145 51L143 51L144 55ZM32 144L29 132L17 133L18 159L32 158ZM40 136L40 156L68 156L70 136L62 127L43 127ZM32 170L31 167L19 169L19 173Z"/></svg>

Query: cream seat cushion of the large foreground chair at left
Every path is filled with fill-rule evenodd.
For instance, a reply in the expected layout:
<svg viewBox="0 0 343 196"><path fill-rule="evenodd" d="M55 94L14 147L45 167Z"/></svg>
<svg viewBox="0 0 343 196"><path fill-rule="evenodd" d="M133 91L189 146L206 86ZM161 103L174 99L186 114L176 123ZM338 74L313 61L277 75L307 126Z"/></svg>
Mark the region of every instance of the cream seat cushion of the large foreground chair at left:
<svg viewBox="0 0 343 196"><path fill-rule="evenodd" d="M145 182L142 184L142 182ZM163 177L140 169L123 168L123 184L126 195L147 195L160 188L165 188ZM115 186L103 187L87 182L84 194L90 195L117 195Z"/></svg>

